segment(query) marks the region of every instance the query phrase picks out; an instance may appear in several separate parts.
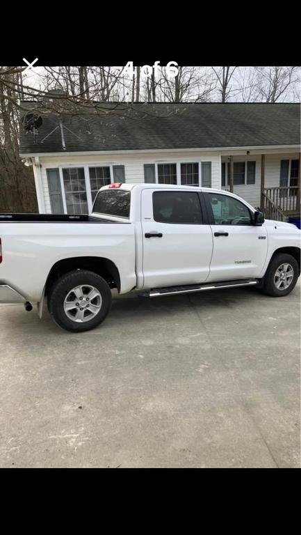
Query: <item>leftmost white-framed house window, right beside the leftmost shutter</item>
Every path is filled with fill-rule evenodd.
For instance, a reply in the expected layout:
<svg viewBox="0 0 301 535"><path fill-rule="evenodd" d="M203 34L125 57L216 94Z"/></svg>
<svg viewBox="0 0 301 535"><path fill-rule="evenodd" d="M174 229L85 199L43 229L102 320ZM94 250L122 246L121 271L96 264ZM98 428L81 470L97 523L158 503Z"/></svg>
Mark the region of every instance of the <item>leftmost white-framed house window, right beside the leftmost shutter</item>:
<svg viewBox="0 0 301 535"><path fill-rule="evenodd" d="M88 214L86 180L83 167L63 169L67 214Z"/></svg>

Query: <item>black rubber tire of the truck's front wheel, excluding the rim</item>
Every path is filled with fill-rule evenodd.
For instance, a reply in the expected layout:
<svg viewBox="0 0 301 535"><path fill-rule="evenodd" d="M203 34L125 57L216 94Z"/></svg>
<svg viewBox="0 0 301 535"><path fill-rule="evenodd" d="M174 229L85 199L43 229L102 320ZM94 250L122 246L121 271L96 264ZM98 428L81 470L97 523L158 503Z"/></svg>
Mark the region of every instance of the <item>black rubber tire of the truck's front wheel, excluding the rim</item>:
<svg viewBox="0 0 301 535"><path fill-rule="evenodd" d="M290 279L291 282L287 288L277 288L275 283L275 274L278 270L278 267L282 266L282 264L289 264L293 268L293 278ZM284 297L284 295L288 295L288 293L291 293L291 290L295 288L298 277L299 265L295 258L291 256L291 254L275 254L270 261L270 265L268 266L268 270L266 271L266 275L263 279L262 290L271 297Z"/></svg>

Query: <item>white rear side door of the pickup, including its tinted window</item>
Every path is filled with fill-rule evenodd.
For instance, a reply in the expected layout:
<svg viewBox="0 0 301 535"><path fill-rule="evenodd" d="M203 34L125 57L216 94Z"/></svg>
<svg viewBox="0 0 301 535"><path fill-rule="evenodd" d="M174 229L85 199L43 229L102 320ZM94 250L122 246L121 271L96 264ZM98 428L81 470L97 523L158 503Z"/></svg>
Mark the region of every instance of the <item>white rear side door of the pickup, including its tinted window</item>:
<svg viewBox="0 0 301 535"><path fill-rule="evenodd" d="M144 288L206 281L213 238L205 223L196 190L143 190Z"/></svg>

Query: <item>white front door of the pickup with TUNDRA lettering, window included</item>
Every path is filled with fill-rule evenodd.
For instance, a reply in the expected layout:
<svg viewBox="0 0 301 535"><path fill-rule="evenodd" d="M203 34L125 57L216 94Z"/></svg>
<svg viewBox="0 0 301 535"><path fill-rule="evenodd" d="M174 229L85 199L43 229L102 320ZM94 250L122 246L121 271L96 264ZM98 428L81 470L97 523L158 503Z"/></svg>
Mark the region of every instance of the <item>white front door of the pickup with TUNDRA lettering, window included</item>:
<svg viewBox="0 0 301 535"><path fill-rule="evenodd" d="M204 194L213 233L208 282L256 278L268 251L265 226L252 225L249 208L227 194Z"/></svg>

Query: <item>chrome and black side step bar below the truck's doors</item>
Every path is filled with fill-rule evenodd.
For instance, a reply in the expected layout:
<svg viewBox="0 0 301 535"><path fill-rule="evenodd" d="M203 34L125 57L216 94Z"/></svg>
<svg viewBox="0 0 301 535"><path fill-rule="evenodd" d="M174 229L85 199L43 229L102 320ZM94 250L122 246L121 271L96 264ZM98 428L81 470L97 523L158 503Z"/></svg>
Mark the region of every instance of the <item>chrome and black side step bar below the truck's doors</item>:
<svg viewBox="0 0 301 535"><path fill-rule="evenodd" d="M186 286L168 286L166 288L154 288L139 293L140 297L162 297L163 295L178 295L180 293L202 292L204 290L221 290L223 288L238 288L240 286L255 286L259 284L257 279L240 281L214 282L211 284L189 284Z"/></svg>

